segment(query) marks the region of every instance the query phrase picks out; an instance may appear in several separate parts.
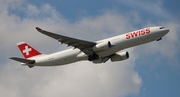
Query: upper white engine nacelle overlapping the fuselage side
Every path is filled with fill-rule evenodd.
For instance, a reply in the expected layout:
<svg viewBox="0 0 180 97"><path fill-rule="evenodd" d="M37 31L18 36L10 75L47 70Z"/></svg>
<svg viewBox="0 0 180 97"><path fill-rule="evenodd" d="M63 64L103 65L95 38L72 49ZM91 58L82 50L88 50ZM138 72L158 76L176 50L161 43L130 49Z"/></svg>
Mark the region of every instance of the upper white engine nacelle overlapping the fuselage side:
<svg viewBox="0 0 180 97"><path fill-rule="evenodd" d="M111 42L107 41L107 42L98 43L97 45L93 47L93 50L100 51L100 50L105 50L109 48L111 48Z"/></svg>

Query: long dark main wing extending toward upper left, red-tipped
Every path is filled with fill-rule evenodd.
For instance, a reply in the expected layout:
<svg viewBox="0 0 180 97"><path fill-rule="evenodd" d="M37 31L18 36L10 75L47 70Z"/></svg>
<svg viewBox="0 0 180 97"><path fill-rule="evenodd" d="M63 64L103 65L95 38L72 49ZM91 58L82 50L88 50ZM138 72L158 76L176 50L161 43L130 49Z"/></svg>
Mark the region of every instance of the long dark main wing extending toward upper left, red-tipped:
<svg viewBox="0 0 180 97"><path fill-rule="evenodd" d="M42 34L52 37L61 43L67 44L68 46L73 46L74 48L78 48L88 55L93 53L92 47L96 45L96 43L94 43L94 42L55 34L55 33L49 32L49 31L42 30L39 27L36 27L36 29L37 29L37 31L41 32Z"/></svg>

